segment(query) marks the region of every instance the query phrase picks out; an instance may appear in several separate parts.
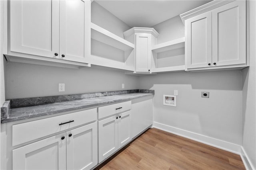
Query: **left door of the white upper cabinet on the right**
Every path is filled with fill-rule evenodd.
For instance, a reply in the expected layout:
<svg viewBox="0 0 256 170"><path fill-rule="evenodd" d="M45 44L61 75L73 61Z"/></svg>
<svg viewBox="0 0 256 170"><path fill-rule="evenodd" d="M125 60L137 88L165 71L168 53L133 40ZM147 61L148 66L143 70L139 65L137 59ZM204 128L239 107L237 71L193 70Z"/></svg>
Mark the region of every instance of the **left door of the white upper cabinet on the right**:
<svg viewBox="0 0 256 170"><path fill-rule="evenodd" d="M196 39L199 35L192 35L192 25L194 23L200 22L202 20L205 20L205 27L203 27L202 29L206 29L205 30L205 35L202 37L205 39L205 48L201 49L200 47L198 47L198 49L196 50L192 50L192 46L193 44L202 44L200 42L201 39ZM185 65L186 68L200 68L200 67L209 67L209 63L210 66L212 65L212 12L206 12L203 14L200 14L198 16L194 16L192 18L189 18L187 20L185 20ZM199 25L201 26L201 25ZM198 28L200 29L200 27ZM200 34L200 31L198 31L198 33ZM195 38L195 40L194 40ZM193 54L196 51L202 51L204 50L204 53L201 54ZM198 57L198 55L201 55L200 58L204 58L205 62L201 62L201 63L197 63L195 62L193 64L193 60L196 59L196 57Z"/></svg>

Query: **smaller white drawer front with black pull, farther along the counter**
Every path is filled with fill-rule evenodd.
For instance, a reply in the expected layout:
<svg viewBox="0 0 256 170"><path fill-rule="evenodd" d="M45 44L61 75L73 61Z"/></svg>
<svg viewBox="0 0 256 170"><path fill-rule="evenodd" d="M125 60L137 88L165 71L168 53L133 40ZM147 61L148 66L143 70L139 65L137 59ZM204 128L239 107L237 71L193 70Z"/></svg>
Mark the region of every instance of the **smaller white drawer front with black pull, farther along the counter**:
<svg viewBox="0 0 256 170"><path fill-rule="evenodd" d="M117 104L111 104L108 106L102 106L99 107L99 119L108 117L110 115L114 115L116 113L120 113L123 111L130 110L132 106L131 101L117 103Z"/></svg>

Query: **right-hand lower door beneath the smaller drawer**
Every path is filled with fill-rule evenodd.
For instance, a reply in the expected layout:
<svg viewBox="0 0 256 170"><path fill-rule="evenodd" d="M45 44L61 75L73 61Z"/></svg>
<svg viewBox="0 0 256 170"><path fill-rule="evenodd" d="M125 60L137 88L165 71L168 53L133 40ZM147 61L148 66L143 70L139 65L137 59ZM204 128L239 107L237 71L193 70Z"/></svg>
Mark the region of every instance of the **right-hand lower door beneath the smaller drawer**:
<svg viewBox="0 0 256 170"><path fill-rule="evenodd" d="M123 147L132 139L131 111L126 111L118 116L118 148Z"/></svg>

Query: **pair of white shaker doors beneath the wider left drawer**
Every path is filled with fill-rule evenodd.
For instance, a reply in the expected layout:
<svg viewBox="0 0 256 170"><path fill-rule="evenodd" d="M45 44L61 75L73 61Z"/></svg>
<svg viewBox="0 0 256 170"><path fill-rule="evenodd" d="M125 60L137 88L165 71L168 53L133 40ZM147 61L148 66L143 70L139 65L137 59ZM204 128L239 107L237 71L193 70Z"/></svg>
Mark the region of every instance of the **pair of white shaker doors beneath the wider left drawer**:
<svg viewBox="0 0 256 170"><path fill-rule="evenodd" d="M97 163L97 122L12 151L13 169L84 170Z"/></svg>

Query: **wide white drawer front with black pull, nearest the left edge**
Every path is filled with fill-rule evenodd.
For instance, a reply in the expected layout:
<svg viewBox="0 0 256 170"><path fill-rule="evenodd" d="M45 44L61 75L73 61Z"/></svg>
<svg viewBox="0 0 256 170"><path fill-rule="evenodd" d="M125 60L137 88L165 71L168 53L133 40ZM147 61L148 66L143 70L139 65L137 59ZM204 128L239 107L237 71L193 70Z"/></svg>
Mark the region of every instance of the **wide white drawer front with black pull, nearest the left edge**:
<svg viewBox="0 0 256 170"><path fill-rule="evenodd" d="M58 133L78 125L95 121L96 119L97 108L94 108L13 125L12 146Z"/></svg>

